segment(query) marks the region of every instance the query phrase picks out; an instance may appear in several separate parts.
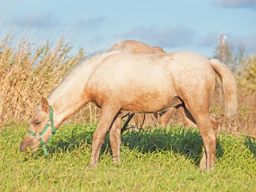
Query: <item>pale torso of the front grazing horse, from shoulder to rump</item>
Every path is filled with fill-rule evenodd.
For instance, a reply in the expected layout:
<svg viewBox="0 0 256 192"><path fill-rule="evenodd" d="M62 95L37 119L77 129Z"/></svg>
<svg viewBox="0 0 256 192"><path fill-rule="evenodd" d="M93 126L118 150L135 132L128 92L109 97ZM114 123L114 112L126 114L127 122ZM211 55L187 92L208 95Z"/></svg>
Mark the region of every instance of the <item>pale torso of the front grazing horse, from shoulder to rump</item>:
<svg viewBox="0 0 256 192"><path fill-rule="evenodd" d="M151 112L166 109L176 96L182 98L196 90L200 93L214 78L209 60L200 54L116 53L94 70L86 90L99 106L108 100L120 102L134 112L142 112L141 108L145 109L143 112ZM213 86L210 85L210 91Z"/></svg>

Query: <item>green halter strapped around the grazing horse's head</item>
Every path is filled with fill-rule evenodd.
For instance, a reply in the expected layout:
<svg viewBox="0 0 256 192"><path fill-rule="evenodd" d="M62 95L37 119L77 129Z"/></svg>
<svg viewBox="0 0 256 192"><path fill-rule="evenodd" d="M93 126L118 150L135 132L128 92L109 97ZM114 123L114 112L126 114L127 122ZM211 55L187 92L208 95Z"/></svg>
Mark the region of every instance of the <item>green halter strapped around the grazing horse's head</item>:
<svg viewBox="0 0 256 192"><path fill-rule="evenodd" d="M56 129L54 127L54 110L53 110L53 108L51 108L51 106L50 106L49 120L48 120L48 123L46 124L46 126L43 128L43 130L41 130L41 132L39 134L36 134L33 131L29 130L29 134L32 134L34 136L34 138L38 139L38 141L42 144L42 150L45 155L48 155L47 150L46 150L47 142L44 143L42 141L42 134L44 134L46 132L46 130L48 129L49 126L51 126L52 135L50 136L50 138L48 139L47 142L50 142L50 139L53 138L54 134L56 134Z"/></svg>

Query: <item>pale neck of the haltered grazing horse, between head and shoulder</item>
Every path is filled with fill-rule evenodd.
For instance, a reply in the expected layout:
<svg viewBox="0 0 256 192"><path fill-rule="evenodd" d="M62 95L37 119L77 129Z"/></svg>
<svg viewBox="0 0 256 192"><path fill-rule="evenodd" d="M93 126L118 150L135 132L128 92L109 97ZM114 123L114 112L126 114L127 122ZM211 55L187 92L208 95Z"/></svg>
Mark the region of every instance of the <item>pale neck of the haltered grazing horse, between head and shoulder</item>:
<svg viewBox="0 0 256 192"><path fill-rule="evenodd" d="M54 109L54 125L56 127L87 102L90 102L89 97L85 94L86 82L101 60L101 58L94 58L94 60L84 61L74 66L50 94L48 102Z"/></svg>

